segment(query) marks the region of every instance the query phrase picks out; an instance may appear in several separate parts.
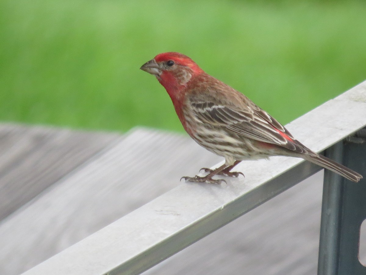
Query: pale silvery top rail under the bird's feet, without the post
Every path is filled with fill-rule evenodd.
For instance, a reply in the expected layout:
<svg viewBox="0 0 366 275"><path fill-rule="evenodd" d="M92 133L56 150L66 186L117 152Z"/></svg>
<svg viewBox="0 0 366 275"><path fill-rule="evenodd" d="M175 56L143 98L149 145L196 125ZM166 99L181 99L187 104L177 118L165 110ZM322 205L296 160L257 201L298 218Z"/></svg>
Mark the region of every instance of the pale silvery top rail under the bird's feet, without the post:
<svg viewBox="0 0 366 275"><path fill-rule="evenodd" d="M286 127L300 142L322 151L365 125L366 81ZM23 274L138 274L320 169L302 159L272 157L240 163L236 170L245 179L225 178L227 185L182 181Z"/></svg>

